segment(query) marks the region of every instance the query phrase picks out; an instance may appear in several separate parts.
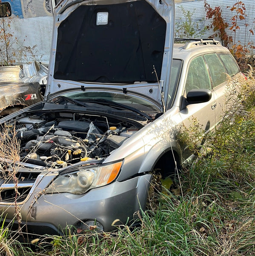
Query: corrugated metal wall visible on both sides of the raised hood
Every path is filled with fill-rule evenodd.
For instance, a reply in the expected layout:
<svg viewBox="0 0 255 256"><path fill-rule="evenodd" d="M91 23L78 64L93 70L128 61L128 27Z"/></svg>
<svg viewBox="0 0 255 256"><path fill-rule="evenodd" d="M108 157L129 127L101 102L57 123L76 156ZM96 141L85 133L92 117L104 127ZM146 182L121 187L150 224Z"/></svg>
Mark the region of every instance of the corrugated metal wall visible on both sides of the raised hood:
<svg viewBox="0 0 255 256"><path fill-rule="evenodd" d="M207 2L212 8L221 6L223 17L226 22L231 23L230 18L234 13L226 9L226 6L232 6L237 0L207 0ZM9 0L9 3L12 11L10 33L14 38L11 47L15 49L16 63L22 64L34 59L45 64L49 63L53 26L51 0ZM249 33L250 28L255 31L255 8L254 0L244 0L243 3L247 17L246 20L238 21L241 29L236 34L236 42L247 44L255 42L255 36ZM209 24L210 20L206 20L203 0L175 0L175 5L176 24L184 21L180 6L185 10L195 9L192 21L198 24L198 29L203 29ZM245 23L249 26L246 27ZM212 35L212 32L206 31L201 37L206 38L209 35ZM231 31L229 35L234 36Z"/></svg>

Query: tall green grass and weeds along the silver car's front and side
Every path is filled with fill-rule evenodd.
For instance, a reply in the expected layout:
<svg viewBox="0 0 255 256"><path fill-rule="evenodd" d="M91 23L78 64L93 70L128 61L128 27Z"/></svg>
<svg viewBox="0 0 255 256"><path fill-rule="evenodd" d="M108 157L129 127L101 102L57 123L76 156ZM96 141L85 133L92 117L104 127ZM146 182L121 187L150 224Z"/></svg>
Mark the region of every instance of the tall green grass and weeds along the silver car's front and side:
<svg viewBox="0 0 255 256"><path fill-rule="evenodd" d="M180 173L175 189L156 193L140 227L114 233L54 236L34 247L0 231L0 255L254 256L255 83L243 82L241 101L208 136L210 150ZM177 189L176 189L177 187ZM180 193L180 190L182 193Z"/></svg>

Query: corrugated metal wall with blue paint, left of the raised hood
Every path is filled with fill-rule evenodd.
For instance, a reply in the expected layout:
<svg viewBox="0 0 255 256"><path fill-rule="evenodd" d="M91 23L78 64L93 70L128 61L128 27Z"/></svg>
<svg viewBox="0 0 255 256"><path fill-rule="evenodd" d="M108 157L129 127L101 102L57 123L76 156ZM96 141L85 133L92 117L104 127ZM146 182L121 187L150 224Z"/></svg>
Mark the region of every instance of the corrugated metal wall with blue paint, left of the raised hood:
<svg viewBox="0 0 255 256"><path fill-rule="evenodd" d="M53 27L51 0L9 0L9 3L11 47L16 49L16 63L34 59L49 63Z"/></svg>

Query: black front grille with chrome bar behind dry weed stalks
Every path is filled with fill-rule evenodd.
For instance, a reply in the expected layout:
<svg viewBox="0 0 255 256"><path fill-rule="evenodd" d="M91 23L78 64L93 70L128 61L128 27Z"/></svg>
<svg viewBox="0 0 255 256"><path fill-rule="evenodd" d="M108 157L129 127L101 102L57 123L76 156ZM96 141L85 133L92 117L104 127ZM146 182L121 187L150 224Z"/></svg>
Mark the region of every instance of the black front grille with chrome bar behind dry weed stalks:
<svg viewBox="0 0 255 256"><path fill-rule="evenodd" d="M2 172L0 186L0 201L2 203L20 203L26 199L40 172L17 172L17 189L11 172Z"/></svg>

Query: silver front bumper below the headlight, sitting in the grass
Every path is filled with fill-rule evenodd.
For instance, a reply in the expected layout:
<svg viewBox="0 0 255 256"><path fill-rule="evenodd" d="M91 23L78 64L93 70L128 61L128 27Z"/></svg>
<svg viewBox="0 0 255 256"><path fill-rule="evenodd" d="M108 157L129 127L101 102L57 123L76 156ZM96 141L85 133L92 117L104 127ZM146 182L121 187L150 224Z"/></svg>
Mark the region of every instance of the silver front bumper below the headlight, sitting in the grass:
<svg viewBox="0 0 255 256"><path fill-rule="evenodd" d="M107 186L92 189L84 195L59 193L41 195L37 201L30 197L20 205L21 226L26 232L34 234L63 234L66 226L76 226L80 221L97 220L105 232L117 224L135 218L134 214L146 204L147 191L151 180L150 174L133 177L122 182L113 182ZM33 211L31 213L31 206ZM11 222L14 216L14 205L0 204L0 211L6 216L5 222ZM12 226L17 226L14 222Z"/></svg>

